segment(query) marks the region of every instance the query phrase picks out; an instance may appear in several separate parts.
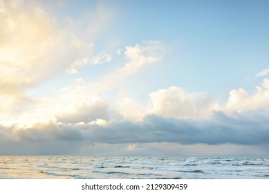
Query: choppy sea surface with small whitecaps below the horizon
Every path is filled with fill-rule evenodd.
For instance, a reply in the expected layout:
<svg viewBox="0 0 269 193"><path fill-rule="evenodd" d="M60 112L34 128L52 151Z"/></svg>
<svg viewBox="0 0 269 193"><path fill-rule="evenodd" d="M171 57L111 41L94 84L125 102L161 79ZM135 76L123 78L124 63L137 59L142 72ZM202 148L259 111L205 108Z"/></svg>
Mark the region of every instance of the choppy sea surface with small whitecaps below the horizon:
<svg viewBox="0 0 269 193"><path fill-rule="evenodd" d="M269 179L269 157L0 156L0 179Z"/></svg>

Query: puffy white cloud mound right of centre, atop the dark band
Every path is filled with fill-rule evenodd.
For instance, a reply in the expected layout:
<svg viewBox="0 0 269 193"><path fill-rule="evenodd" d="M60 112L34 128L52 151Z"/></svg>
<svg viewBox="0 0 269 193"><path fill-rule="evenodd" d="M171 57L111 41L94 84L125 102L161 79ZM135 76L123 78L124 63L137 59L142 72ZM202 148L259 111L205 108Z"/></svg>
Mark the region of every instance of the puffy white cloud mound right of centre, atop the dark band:
<svg viewBox="0 0 269 193"><path fill-rule="evenodd" d="M203 93L187 92L172 86L151 92L151 113L179 119L205 119L212 115L214 103Z"/></svg>

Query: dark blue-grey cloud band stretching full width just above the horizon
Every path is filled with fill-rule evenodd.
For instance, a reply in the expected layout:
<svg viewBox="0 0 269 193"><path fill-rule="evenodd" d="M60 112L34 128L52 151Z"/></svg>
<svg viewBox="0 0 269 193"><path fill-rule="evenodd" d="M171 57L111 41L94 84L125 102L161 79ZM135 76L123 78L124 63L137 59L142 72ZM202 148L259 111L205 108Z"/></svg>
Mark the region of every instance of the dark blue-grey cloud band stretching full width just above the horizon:
<svg viewBox="0 0 269 193"><path fill-rule="evenodd" d="M37 123L33 128L19 129L15 126L0 128L1 145L8 145L16 152L16 147L29 144L33 152L50 152L51 144L62 147L63 154L72 148L75 152L83 145L94 143L178 143L192 144L237 144L261 145L269 143L269 119L266 110L248 111L227 116L223 112L214 112L211 119L194 121L192 119L170 119L149 114L143 121L113 120L105 125L97 123ZM16 144L22 144L18 146ZM11 144L11 145L10 145ZM70 144L72 144L70 146ZM70 147L69 147L70 146ZM10 149L10 152L12 150ZM39 151L40 150L40 151ZM1 150L3 154L5 150ZM28 150L26 151L28 152ZM61 150L51 150L60 153Z"/></svg>

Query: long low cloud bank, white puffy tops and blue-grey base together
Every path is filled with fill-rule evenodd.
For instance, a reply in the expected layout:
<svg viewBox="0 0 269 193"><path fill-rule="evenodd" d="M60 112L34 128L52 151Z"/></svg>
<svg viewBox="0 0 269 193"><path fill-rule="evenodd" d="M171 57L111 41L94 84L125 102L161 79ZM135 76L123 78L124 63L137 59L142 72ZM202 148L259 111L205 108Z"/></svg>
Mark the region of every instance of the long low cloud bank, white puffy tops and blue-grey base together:
<svg viewBox="0 0 269 193"><path fill-rule="evenodd" d="M149 143L192 145L194 149L207 145L208 150L208 145L266 145L268 83L264 79L253 96L243 89L231 91L228 104L218 111L203 93L175 86L152 92L151 105L144 108L130 98L111 103L106 97L62 94L68 103L60 97L52 107L46 107L48 102L39 104L9 125L1 125L0 139L5 144L62 141L74 143L77 151L92 149L93 144L125 144L120 147L126 154L142 151L138 144Z"/></svg>

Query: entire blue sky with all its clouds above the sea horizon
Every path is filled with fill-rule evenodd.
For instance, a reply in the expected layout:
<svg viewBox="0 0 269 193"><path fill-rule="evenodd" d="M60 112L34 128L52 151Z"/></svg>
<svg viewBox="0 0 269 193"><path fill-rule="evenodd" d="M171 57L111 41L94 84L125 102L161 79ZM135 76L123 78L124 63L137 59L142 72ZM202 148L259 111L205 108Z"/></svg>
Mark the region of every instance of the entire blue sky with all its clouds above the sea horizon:
<svg viewBox="0 0 269 193"><path fill-rule="evenodd" d="M0 154L268 156L268 10L0 0Z"/></svg>

